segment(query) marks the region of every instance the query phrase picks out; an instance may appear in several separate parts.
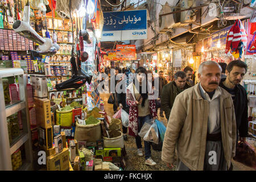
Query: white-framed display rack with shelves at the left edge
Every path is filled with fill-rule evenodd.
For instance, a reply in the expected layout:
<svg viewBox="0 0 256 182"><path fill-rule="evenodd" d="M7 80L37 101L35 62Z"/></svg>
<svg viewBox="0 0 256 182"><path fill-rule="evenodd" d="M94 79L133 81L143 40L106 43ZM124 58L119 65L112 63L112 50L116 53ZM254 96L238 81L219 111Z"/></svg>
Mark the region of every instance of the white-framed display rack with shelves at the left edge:
<svg viewBox="0 0 256 182"><path fill-rule="evenodd" d="M18 76L19 101L5 105L2 78ZM11 154L24 144L26 160L19 170L32 170L32 142L30 133L30 115L27 102L27 77L21 68L0 68L0 170L12 170ZM7 117L21 111L23 131L18 138L9 143Z"/></svg>

